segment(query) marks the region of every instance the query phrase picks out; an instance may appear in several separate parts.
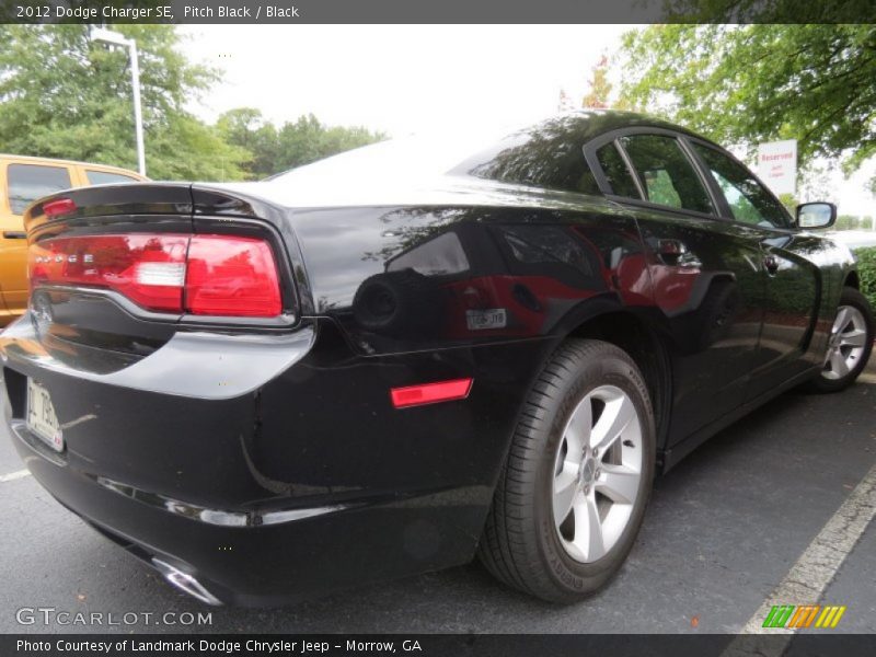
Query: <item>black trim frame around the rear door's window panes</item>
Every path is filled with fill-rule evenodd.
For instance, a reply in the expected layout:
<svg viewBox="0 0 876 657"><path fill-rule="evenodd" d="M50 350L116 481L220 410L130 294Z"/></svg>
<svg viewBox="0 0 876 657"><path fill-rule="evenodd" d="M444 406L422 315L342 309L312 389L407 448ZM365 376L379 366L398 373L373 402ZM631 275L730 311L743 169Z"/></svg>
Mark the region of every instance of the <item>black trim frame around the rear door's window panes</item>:
<svg viewBox="0 0 876 657"><path fill-rule="evenodd" d="M688 162L693 169L696 177L700 180L700 184L703 185L703 189L708 197L708 200L712 204L713 211L712 212L701 212L699 210L690 210L688 208L676 208L672 206L662 205L659 203L654 203L647 200L645 194L645 186L641 176L635 171L635 168L630 160L630 155L626 152L626 149L620 142L621 137L629 137L632 135L657 135L660 137L670 137L676 140L681 150L682 154L688 159ZM661 128L658 126L636 126L636 127L626 127L626 128L618 128L614 130L610 130L588 141L584 147L584 157L587 160L587 164L590 166L590 170L593 172L593 177L596 177L597 185L599 185L599 189L604 194L606 198L609 200L613 200L615 203L621 204L629 204L635 207L641 207L649 210L658 210L662 212L677 212L687 215L690 217L695 217L698 219L712 219L717 221L726 221L726 217L722 216L722 208L719 203L724 203L723 196L721 200L715 197L714 189L710 183L710 180L705 177L706 172L700 164L699 159L694 159L688 145L684 142L687 135L683 132L679 132L676 130L669 130L667 128ZM614 148L621 153L621 158L626 164L627 172L630 173L631 177L636 184L636 188L641 195L639 198L631 198L629 196L619 196L614 194L611 185L609 184L608 177L606 176L604 171L602 171L602 166L599 163L599 159L597 158L596 151L606 146L607 143L614 143ZM711 177L711 176L710 176Z"/></svg>

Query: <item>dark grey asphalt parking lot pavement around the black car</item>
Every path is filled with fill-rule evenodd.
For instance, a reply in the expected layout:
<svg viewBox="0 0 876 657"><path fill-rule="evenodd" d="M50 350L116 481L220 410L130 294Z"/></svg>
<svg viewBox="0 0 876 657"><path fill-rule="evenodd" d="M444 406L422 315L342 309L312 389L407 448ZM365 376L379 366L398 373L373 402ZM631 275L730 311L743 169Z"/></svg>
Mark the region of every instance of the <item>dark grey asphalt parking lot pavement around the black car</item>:
<svg viewBox="0 0 876 657"><path fill-rule="evenodd" d="M2 632L737 632L876 463L876 378L838 395L792 392L726 429L657 481L618 578L567 608L495 584L477 564L284 609L207 608L163 584L30 476L0 483ZM0 474L21 471L0 436ZM823 603L837 631L876 633L876 523ZM787 600L794 604L800 601ZM211 612L211 625L20 625L21 608ZM181 616L176 616L181 618ZM153 623L154 621L150 621Z"/></svg>

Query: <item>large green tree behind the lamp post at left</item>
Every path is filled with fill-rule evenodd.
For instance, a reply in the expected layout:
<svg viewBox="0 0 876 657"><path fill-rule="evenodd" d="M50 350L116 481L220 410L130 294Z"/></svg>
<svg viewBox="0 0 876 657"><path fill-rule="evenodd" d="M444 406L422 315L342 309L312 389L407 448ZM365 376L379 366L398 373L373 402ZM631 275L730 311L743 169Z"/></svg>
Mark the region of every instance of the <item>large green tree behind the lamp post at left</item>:
<svg viewBox="0 0 876 657"><path fill-rule="evenodd" d="M234 180L247 152L186 110L218 80L186 61L170 25L114 25L137 39L150 177ZM85 25L0 25L0 151L136 168L126 49Z"/></svg>

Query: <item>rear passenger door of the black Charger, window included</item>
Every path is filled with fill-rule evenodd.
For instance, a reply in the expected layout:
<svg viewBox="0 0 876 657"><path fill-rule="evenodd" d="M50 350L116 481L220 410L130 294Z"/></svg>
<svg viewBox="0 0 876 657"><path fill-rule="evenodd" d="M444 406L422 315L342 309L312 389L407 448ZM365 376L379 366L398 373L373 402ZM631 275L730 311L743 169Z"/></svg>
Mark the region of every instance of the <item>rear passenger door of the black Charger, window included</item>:
<svg viewBox="0 0 876 657"><path fill-rule="evenodd" d="M718 216L679 135L621 130L588 145L586 157L608 197L634 214L648 250L672 359L671 447L746 399L763 315L760 247Z"/></svg>

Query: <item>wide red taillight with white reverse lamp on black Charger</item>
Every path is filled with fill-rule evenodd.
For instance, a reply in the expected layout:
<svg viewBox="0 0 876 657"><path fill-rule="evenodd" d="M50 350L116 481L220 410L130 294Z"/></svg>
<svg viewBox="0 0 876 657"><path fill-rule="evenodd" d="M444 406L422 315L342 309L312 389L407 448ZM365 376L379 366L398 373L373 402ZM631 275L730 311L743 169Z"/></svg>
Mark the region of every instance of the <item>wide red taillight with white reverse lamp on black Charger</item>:
<svg viewBox="0 0 876 657"><path fill-rule="evenodd" d="M126 234L43 240L30 247L31 286L115 290L157 312L273 318L279 275L264 240Z"/></svg>

